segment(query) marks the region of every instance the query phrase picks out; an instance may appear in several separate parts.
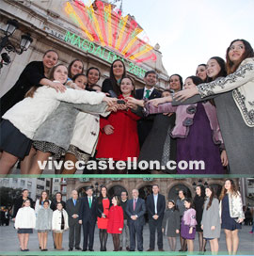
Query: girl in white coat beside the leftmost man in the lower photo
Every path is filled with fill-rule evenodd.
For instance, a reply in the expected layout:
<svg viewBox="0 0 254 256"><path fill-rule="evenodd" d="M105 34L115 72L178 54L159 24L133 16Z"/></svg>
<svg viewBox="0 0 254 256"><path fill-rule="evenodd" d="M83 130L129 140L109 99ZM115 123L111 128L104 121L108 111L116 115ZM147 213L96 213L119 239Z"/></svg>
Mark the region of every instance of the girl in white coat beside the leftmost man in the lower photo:
<svg viewBox="0 0 254 256"><path fill-rule="evenodd" d="M63 209L61 202L56 205L56 211L52 217L52 231L54 232L56 249L62 250L63 232L68 230L68 214Z"/></svg>

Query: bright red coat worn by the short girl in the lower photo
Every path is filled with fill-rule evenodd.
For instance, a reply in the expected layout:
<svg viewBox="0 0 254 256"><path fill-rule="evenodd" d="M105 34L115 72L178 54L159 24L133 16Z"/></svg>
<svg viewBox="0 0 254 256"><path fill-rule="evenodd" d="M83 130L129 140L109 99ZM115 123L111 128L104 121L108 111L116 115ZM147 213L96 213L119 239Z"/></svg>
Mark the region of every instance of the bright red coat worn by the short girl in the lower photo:
<svg viewBox="0 0 254 256"><path fill-rule="evenodd" d="M121 229L121 231L119 231ZM123 229L123 210L119 205L112 205L108 213L107 232L121 233Z"/></svg>

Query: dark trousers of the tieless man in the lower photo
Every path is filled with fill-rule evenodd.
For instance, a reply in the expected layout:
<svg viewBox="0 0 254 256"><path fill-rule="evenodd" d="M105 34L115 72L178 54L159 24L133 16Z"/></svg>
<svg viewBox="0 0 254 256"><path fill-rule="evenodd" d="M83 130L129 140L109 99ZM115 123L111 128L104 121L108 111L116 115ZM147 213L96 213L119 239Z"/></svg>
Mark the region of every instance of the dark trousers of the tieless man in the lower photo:
<svg viewBox="0 0 254 256"><path fill-rule="evenodd" d="M149 230L150 230L150 247L155 248L155 232L157 230L157 245L158 248L163 248L163 233L162 233L162 218L157 220L150 218L149 219Z"/></svg>

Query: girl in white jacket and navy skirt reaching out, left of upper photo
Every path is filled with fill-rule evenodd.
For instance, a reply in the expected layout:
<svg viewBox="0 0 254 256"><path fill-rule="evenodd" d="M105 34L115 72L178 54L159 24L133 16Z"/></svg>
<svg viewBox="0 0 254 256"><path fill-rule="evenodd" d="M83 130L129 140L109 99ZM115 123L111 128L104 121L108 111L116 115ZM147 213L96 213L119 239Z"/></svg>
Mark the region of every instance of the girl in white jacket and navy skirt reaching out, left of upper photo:
<svg viewBox="0 0 254 256"><path fill-rule="evenodd" d="M67 80L67 73L67 68L59 64L53 68L50 78L64 84ZM0 149L3 151L0 159L1 174L8 174L19 158L24 159L29 154L31 140L36 130L56 110L60 101L74 104L101 104L103 101L112 104L114 101L103 93L71 88L66 88L63 93L56 92L54 88L31 88L27 96L3 116L4 120L0 125Z"/></svg>

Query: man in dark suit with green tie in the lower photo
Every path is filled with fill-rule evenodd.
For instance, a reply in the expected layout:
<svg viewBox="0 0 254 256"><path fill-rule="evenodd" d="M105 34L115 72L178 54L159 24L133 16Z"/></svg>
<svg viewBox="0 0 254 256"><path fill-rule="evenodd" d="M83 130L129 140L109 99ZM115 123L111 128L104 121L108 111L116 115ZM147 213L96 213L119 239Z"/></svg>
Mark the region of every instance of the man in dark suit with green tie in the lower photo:
<svg viewBox="0 0 254 256"><path fill-rule="evenodd" d="M83 225L83 251L87 250L87 242L89 237L88 250L94 251L94 229L97 220L97 200L92 196L93 190L91 187L86 189L87 197L81 200L80 211L79 211L79 223Z"/></svg>

